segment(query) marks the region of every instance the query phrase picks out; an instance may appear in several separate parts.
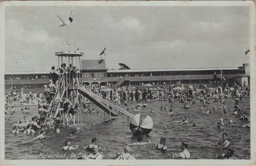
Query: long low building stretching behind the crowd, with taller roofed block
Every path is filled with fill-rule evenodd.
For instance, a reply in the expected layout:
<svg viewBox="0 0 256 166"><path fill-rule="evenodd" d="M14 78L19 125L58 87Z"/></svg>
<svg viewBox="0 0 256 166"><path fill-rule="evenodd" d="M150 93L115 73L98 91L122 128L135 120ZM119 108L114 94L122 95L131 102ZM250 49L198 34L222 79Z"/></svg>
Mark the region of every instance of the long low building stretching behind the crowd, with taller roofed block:
<svg viewBox="0 0 256 166"><path fill-rule="evenodd" d="M49 84L49 72L6 72L4 77L5 92L24 88L25 92L42 91L44 84ZM143 84L209 84L225 82L230 84L250 84L250 64L230 68L169 68L169 69L137 69L108 70L104 59L82 60L81 82L83 84L115 86L140 86Z"/></svg>

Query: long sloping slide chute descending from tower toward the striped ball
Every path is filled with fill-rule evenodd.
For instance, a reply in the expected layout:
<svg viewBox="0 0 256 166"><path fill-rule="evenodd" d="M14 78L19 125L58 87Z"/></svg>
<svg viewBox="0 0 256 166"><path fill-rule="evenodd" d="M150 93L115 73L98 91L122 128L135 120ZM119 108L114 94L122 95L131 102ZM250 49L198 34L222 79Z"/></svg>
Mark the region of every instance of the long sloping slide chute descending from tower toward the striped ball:
<svg viewBox="0 0 256 166"><path fill-rule="evenodd" d="M133 114L131 114L130 112L127 112L127 110L123 109L122 107L119 107L118 105L115 105L114 103L111 103L108 100L105 100L104 98L101 98L100 96L98 96L97 94L92 93L91 91L89 91L85 87L78 87L77 89L79 90L79 93L83 94L83 96L85 96L90 101L95 103L95 105L100 107L100 109L104 110L108 114L111 111L111 116L117 116L117 115L113 113L114 110L109 110L108 107L111 107L115 110L118 110L118 111L122 112L123 114L125 114L129 117L134 116Z"/></svg>

